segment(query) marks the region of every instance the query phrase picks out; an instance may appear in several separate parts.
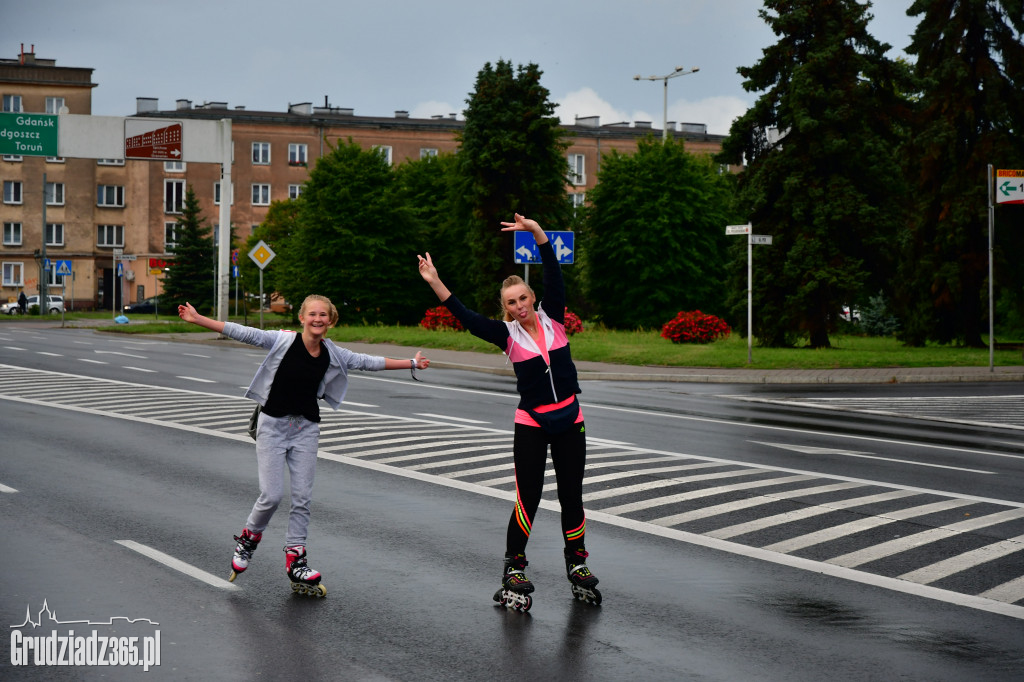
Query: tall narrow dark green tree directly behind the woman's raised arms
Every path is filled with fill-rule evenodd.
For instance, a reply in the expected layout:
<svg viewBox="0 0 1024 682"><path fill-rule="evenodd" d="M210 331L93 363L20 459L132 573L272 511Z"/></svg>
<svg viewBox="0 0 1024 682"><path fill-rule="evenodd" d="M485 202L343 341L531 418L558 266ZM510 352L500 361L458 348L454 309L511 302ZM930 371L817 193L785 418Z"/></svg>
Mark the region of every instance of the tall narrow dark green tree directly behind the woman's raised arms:
<svg viewBox="0 0 1024 682"><path fill-rule="evenodd" d="M467 99L454 186L455 216L469 247L468 261L442 257L438 267L467 273L472 290L460 295L481 311L497 311L497 287L517 269L512 233L502 232L499 223L515 212L545 229L564 229L571 220L565 194L567 144L541 73L532 63L513 71L509 61L488 62ZM458 244L445 249L460 250Z"/></svg>

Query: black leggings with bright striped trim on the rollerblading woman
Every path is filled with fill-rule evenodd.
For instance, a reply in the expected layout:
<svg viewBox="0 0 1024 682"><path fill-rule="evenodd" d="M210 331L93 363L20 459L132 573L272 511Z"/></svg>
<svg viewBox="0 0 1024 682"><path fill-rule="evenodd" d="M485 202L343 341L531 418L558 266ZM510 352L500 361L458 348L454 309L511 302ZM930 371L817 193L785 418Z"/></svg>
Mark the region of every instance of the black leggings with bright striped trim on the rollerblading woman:
<svg viewBox="0 0 1024 682"><path fill-rule="evenodd" d="M525 424L515 425L516 503L509 519L505 550L510 554L525 554L526 542L534 525L537 508L544 488L544 469L548 445L555 466L558 504L562 508L562 537L568 550L584 549L587 519L583 511L583 471L587 464L587 434L584 423L573 424L558 435Z"/></svg>

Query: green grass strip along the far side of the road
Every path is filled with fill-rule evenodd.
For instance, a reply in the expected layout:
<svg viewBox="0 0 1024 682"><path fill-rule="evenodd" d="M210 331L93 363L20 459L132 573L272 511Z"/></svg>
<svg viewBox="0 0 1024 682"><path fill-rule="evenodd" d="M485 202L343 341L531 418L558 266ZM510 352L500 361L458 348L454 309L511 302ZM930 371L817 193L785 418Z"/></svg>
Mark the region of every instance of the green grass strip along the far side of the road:
<svg viewBox="0 0 1024 682"><path fill-rule="evenodd" d="M50 317L52 318L53 316ZM110 312L80 312L68 313L66 322L70 326L83 326L111 318ZM9 319L25 318L13 316ZM243 322L241 317L231 319ZM250 325L258 325L259 315L250 314L248 322ZM264 313L263 326L270 329L287 329L290 327L290 318L287 315ZM205 331L195 325L180 322L176 315L160 315L159 318L153 315L132 315L128 325L104 325L97 329L119 334L182 334ZM329 336L342 345L346 342L391 343L417 348L498 352L495 346L480 341L467 332L428 331L421 327L338 327L331 330ZM755 343L754 361L748 365L746 339L737 334L707 345L673 344L663 339L657 331L587 330L570 337L574 359L618 365L768 370L988 366L987 347L964 348L955 345L929 344L923 348L911 348L891 337L854 335L837 335L830 337L830 340L831 348L819 349L761 348ZM997 366L1024 365L1019 349L997 349L994 363Z"/></svg>

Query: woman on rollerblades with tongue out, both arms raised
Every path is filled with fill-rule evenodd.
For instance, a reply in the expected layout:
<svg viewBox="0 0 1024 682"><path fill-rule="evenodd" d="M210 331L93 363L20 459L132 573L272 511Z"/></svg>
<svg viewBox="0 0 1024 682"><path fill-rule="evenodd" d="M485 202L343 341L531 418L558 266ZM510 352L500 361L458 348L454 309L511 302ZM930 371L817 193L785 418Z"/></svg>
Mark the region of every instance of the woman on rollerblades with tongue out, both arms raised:
<svg viewBox="0 0 1024 682"><path fill-rule="evenodd" d="M544 304L535 309L537 296L522 279L502 283L501 305L505 319L485 317L467 308L441 283L430 254L419 256L420 275L437 298L474 336L494 343L512 360L519 391L515 413L516 503L505 541L502 587L495 601L517 610L529 609L534 585L526 578L526 543L541 504L544 469L551 447L561 505L562 539L565 543L566 574L573 595L600 603L597 578L585 563L587 520L583 510L583 475L587 438L577 393L575 366L565 334L565 290L558 259L548 236L537 223L516 214L514 222L503 222L503 231L529 231L537 241L544 263Z"/></svg>

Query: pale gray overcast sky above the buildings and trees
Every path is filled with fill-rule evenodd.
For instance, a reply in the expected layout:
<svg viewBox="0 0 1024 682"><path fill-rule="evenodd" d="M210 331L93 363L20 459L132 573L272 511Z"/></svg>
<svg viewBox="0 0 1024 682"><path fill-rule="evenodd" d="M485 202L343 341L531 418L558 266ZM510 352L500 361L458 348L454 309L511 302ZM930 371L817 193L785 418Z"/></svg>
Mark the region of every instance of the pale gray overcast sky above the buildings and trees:
<svg viewBox="0 0 1024 682"><path fill-rule="evenodd" d="M902 54L911 0L878 0L871 34ZM0 57L22 43L61 67L94 69L92 113L127 116L135 97L259 111L289 103L360 116L462 118L477 73L537 63L565 123L669 120L726 134L757 98L736 73L775 42L761 0L0 0ZM76 112L72 112L73 114Z"/></svg>

